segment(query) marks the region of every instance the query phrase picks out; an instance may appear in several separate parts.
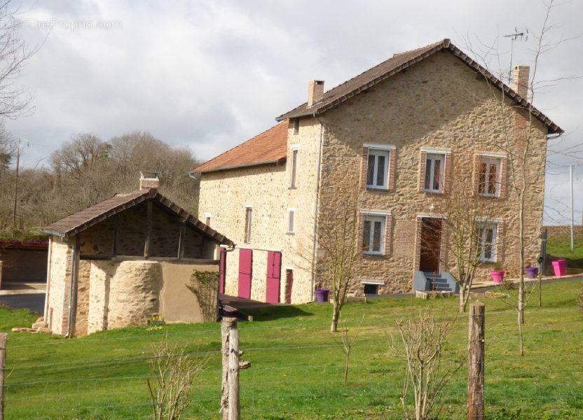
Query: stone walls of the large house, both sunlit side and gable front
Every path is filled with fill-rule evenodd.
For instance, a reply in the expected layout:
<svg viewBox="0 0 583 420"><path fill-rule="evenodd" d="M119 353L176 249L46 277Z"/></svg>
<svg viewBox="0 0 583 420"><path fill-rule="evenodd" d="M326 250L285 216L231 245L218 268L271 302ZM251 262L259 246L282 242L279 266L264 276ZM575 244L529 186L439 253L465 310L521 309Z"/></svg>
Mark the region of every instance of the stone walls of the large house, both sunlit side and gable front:
<svg viewBox="0 0 583 420"><path fill-rule="evenodd" d="M342 204L335 188L350 183L362 186L366 144L391 146L390 165L395 170L389 172L390 188L361 187L358 193L359 209L387 214L387 253L359 258L359 278L350 293L362 294L362 281L380 283L379 293L410 292L413 272L419 266L420 216L439 216L434 209L443 207L444 197L456 188L452 180L472 186L475 156L502 156L505 151L496 145L503 144L507 135L514 136L512 130L523 130L525 118L524 111L512 106L502 115L500 98L493 96L483 78L476 77L475 71L450 52L437 52L317 118L302 117L297 134L290 122L285 165L203 173L199 217L204 220L210 213L213 228L224 232L238 247L256 250L252 299L265 300L266 255L261 250L273 248L283 252L282 279L285 268L294 269L292 302L307 302L313 297L310 255L315 216L336 220ZM505 127L510 127L510 132ZM547 148L547 128L535 119L532 138L525 211L527 264L535 262L540 250L537 237L542 226ZM289 188L293 146L299 146L296 189ZM423 155L434 149L447 155L443 194L425 193L420 178L425 170ZM509 162L506 158L501 162L500 175L510 176ZM513 240L518 236L518 199L505 185L501 190L500 197L486 200L493 200L500 219L497 262L514 275L521 269ZM243 243L246 204L254 209L250 244ZM287 235L287 208L296 209L295 235ZM226 293L237 295L238 251L227 258ZM443 246L441 258L446 258ZM476 276L484 279L492 268L493 263L483 263ZM315 284L324 280L322 274ZM284 287L280 290L283 302Z"/></svg>

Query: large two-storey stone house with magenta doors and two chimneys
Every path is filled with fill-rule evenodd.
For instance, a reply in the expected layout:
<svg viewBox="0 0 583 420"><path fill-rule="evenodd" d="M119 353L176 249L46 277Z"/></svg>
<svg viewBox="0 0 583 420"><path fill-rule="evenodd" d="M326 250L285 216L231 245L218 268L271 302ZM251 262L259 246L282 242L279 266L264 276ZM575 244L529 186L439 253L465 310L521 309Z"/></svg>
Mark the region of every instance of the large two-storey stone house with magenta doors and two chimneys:
<svg viewBox="0 0 583 420"><path fill-rule="evenodd" d="M547 137L563 130L527 102L527 83L527 66L516 66L511 88L448 39L395 54L327 92L323 81L310 81L308 101L277 117L278 125L193 170L199 218L238 244L226 262L225 292L313 300L323 280L315 274L317 221L341 217L330 187L350 183L360 189L362 246L350 293L406 293L419 284L414 279L427 286L427 273L447 277L447 232L434 209L456 188L453 180L476 186L496 209L479 232L476 276L485 279L497 263L516 274L518 251L507 238L518 235L517 198L507 187L508 156L496 144L507 135L505 119L511 137L520 134L529 107L526 260L535 262ZM501 115L502 98L510 111Z"/></svg>

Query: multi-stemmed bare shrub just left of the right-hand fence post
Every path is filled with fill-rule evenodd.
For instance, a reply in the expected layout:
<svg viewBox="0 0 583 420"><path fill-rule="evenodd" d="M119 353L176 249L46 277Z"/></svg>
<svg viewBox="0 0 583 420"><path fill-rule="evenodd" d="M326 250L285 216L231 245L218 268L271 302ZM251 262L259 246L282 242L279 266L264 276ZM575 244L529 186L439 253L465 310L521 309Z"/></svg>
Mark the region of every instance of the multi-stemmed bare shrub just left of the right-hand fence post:
<svg viewBox="0 0 583 420"><path fill-rule="evenodd" d="M438 319L427 306L418 315L406 321L397 321L401 345L390 336L390 348L399 358L404 358L405 379L401 405L406 419L427 420L437 418L441 407L441 393L453 374L463 365L463 360L450 363L444 360L446 337L455 324L453 320ZM407 400L413 391L413 409Z"/></svg>

